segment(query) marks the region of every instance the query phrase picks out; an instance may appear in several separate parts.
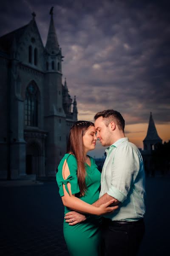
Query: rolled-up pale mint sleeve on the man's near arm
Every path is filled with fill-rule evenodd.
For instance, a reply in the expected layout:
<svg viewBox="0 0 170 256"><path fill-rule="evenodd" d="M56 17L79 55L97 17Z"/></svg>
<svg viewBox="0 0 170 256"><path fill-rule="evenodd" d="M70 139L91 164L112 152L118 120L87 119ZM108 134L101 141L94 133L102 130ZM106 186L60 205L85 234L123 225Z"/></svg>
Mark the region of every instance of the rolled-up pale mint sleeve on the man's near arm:
<svg viewBox="0 0 170 256"><path fill-rule="evenodd" d="M130 145L116 148L111 165L111 185L107 191L108 195L120 202L125 201L139 169L139 156Z"/></svg>

